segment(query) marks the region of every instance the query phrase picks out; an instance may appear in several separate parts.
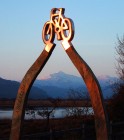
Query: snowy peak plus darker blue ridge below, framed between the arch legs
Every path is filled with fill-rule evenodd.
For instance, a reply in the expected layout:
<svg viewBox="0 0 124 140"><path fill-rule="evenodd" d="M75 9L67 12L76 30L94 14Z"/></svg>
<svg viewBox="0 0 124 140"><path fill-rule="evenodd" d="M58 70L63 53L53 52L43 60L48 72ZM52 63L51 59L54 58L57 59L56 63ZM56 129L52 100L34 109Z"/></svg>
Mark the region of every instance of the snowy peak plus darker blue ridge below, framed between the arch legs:
<svg viewBox="0 0 124 140"><path fill-rule="evenodd" d="M62 71L51 74L43 80L36 80L34 86L43 89L48 96L53 98L68 98L70 89L85 88L85 84L80 77L66 74Z"/></svg>

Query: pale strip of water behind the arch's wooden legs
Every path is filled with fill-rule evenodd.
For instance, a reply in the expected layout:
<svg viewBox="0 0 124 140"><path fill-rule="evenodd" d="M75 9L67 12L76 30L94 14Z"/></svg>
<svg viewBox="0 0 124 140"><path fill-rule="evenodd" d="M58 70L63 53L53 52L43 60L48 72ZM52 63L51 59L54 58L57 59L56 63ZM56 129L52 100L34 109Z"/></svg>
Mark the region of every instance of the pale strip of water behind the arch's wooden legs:
<svg viewBox="0 0 124 140"><path fill-rule="evenodd" d="M73 108L74 109L74 108ZM83 109L82 107L80 107L80 109ZM40 111L43 115L38 115L37 111ZM42 108L37 108L35 109L33 112L31 111L26 111L25 113L25 119L43 119L45 118L45 113L50 111L51 108L49 108L48 110L43 110ZM50 118L64 118L67 115L70 115L72 113L72 108L56 108L50 115ZM0 110L0 119L12 119L12 113L13 110ZM70 113L70 114L69 114ZM47 114L47 113L46 113ZM83 114L85 114L85 110L83 112ZM93 114L93 109L90 107L88 108L88 114Z"/></svg>

